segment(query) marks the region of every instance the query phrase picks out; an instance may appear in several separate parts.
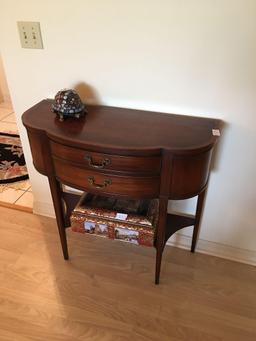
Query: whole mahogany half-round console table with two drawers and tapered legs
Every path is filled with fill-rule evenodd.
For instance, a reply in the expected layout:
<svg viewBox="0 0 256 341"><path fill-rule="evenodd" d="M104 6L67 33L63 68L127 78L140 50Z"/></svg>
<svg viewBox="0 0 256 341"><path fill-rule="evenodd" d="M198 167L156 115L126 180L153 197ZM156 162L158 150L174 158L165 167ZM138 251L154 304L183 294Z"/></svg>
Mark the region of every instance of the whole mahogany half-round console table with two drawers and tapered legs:
<svg viewBox="0 0 256 341"><path fill-rule="evenodd" d="M77 197L62 184L105 195L159 198L155 283L168 238L194 225L195 251L217 119L107 106L88 106L84 118L63 122L43 100L23 116L35 168L49 179L64 259L65 228ZM194 217L167 213L169 199L198 195Z"/></svg>

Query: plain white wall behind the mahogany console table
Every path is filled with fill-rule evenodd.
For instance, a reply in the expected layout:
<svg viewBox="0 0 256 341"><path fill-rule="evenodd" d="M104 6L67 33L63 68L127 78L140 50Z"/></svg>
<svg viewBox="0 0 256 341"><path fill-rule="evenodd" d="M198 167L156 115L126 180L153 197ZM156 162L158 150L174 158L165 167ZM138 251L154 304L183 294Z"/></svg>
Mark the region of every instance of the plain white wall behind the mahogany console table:
<svg viewBox="0 0 256 341"><path fill-rule="evenodd" d="M37 203L51 199L20 116L87 83L102 103L222 118L200 238L256 251L255 0L0 3L0 46ZM43 50L21 49L18 20L41 22Z"/></svg>

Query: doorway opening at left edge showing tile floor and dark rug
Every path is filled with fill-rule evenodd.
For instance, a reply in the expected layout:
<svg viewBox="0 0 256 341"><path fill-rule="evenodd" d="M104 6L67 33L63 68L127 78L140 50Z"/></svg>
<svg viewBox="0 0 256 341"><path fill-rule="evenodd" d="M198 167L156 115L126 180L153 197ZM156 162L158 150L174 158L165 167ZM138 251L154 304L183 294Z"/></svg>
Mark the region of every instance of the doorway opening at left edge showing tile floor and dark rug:
<svg viewBox="0 0 256 341"><path fill-rule="evenodd" d="M13 159L7 156L14 155ZM23 160L23 161L22 161ZM32 212L33 193L27 178L16 115L0 55L0 206Z"/></svg>

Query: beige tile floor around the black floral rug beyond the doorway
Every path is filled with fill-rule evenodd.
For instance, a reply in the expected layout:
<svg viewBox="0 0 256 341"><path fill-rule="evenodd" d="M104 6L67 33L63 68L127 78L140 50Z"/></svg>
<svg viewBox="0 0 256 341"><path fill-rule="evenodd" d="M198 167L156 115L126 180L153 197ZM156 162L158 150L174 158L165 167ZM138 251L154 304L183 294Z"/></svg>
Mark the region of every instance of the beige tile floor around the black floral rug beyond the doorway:
<svg viewBox="0 0 256 341"><path fill-rule="evenodd" d="M0 103L0 132L18 133L15 114L9 103ZM0 185L0 206L32 212L33 194L29 180Z"/></svg>

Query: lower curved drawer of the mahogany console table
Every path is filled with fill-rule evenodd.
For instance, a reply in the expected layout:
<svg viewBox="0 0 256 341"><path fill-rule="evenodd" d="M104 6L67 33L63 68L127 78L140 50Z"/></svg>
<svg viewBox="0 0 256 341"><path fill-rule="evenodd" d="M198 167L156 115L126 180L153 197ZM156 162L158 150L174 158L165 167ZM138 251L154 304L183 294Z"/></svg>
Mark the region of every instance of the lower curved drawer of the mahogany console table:
<svg viewBox="0 0 256 341"><path fill-rule="evenodd" d="M58 158L53 158L53 163L55 174L63 183L88 192L141 198L155 198L159 193L158 176L113 175L75 166Z"/></svg>

